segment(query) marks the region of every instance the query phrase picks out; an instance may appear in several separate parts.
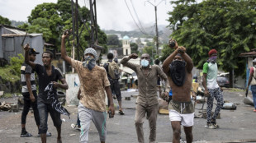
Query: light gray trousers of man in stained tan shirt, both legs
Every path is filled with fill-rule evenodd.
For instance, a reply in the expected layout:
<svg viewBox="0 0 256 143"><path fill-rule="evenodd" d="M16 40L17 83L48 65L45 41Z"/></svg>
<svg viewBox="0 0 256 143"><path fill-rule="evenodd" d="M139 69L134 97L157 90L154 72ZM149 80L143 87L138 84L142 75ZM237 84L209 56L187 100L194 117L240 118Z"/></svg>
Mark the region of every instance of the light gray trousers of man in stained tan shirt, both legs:
<svg viewBox="0 0 256 143"><path fill-rule="evenodd" d="M100 141L106 141L107 130L106 130L106 120L107 113L99 112L86 108L79 102L78 105L79 119L81 121L81 133L80 133L80 143L88 142L88 134L90 129L91 121L97 128L97 132L100 136Z"/></svg>

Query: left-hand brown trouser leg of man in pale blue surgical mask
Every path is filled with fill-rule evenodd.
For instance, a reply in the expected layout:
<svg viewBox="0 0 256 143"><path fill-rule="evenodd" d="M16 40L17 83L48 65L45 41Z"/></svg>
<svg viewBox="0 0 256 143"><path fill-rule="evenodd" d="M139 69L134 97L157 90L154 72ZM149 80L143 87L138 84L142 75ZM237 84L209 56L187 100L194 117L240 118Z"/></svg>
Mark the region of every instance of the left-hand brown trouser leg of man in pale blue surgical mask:
<svg viewBox="0 0 256 143"><path fill-rule="evenodd" d="M139 143L144 143L144 132L143 132L144 118L145 118L145 107L141 106L140 104L136 104L135 127L136 127Z"/></svg>

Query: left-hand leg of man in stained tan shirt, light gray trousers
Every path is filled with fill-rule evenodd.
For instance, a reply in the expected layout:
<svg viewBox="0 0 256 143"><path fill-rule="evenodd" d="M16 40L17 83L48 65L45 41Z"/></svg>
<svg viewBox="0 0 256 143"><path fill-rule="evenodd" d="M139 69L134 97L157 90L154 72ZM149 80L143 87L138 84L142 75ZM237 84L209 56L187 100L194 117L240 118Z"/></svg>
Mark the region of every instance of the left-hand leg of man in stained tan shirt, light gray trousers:
<svg viewBox="0 0 256 143"><path fill-rule="evenodd" d="M79 102L78 105L78 116L81 123L81 132L80 132L80 143L88 143L89 128L92 121L91 110L85 108L83 104Z"/></svg>

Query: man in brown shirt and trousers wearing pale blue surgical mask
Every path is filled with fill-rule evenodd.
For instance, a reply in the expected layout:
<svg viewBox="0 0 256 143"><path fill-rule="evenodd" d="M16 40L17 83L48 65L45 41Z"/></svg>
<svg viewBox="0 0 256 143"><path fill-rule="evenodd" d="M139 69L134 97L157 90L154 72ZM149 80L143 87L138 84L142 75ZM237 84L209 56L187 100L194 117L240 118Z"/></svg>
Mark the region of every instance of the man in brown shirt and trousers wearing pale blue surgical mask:
<svg viewBox="0 0 256 143"><path fill-rule="evenodd" d="M128 62L130 58L136 59L138 55L136 53L130 54L121 60L121 64L126 67L130 67L136 72L138 76L138 89L139 96L136 100L136 112L135 112L135 127L137 132L138 141L144 143L144 132L143 123L145 115L149 120L149 143L154 143L156 138L156 120L159 110L159 102L157 95L157 81L158 76L160 76L164 81L167 81L167 76L164 71L161 70L159 66L149 65L150 58L148 53L144 53L140 58L140 65ZM168 85L168 84L166 84ZM169 86L166 88L168 95L170 90Z"/></svg>

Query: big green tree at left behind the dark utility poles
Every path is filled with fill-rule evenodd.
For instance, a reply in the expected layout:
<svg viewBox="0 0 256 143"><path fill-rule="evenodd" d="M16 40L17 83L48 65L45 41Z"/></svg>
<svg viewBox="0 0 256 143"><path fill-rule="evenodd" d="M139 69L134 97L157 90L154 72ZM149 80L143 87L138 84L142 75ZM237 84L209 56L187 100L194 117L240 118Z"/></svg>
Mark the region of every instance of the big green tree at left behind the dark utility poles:
<svg viewBox="0 0 256 143"><path fill-rule="evenodd" d="M75 4L74 4L75 5ZM67 53L70 55L72 44L78 48L77 55L83 55L83 50L90 46L90 12L87 7L78 5L78 32L79 45L77 40L73 41L73 35L69 36L67 43ZM64 30L70 30L73 27L72 9L69 0L58 0L57 3L43 3L37 5L28 17L28 24L20 25L19 27L27 30L29 33L42 33L45 42L55 44L57 50L60 48L60 37ZM83 27L83 24L85 26ZM87 28L85 28L87 27ZM100 30L97 25L98 43L103 48L107 48L107 35ZM75 37L76 39L76 37ZM73 42L73 43L72 43ZM77 51L77 50L76 50Z"/></svg>

